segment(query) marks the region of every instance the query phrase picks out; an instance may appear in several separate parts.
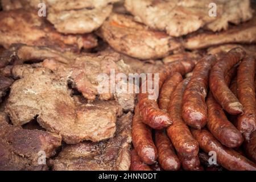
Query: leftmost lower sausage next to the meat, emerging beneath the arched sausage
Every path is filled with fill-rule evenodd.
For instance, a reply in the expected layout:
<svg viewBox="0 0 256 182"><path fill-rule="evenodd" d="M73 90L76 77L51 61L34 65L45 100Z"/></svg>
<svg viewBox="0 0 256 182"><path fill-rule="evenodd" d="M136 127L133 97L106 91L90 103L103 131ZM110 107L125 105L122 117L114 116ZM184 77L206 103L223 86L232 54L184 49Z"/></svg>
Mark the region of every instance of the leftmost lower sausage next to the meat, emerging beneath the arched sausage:
<svg viewBox="0 0 256 182"><path fill-rule="evenodd" d="M158 151L152 140L151 128L145 125L139 115L138 106L135 107L132 128L133 146L141 160L148 164L154 164L158 158Z"/></svg>

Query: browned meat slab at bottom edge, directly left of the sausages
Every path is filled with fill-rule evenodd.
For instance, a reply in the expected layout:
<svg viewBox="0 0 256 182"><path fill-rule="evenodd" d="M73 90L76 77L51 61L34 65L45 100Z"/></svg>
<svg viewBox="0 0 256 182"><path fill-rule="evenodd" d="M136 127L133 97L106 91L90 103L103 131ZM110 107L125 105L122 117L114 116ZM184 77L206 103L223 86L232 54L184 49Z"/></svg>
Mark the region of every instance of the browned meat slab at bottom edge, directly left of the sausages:
<svg viewBox="0 0 256 182"><path fill-rule="evenodd" d="M130 112L117 121L117 131L109 140L92 143L81 142L63 148L52 160L53 170L129 170L131 147Z"/></svg>

